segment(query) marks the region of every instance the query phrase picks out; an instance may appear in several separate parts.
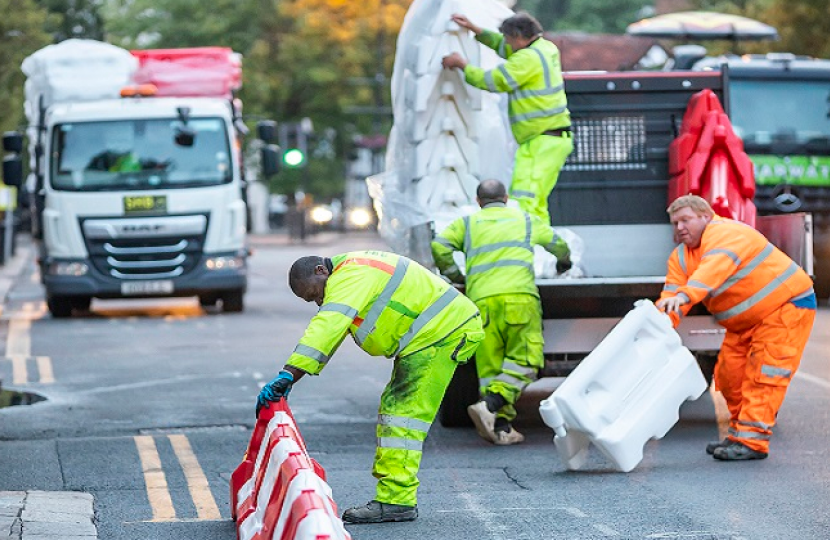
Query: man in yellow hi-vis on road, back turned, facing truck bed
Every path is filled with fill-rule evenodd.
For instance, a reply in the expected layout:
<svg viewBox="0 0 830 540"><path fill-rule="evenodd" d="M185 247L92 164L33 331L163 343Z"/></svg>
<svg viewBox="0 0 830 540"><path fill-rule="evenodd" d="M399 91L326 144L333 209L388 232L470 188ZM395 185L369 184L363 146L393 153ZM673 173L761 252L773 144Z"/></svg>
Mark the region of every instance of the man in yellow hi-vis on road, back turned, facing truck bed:
<svg viewBox="0 0 830 540"><path fill-rule="evenodd" d="M485 440L517 444L524 436L510 424L514 405L544 364L533 246L556 255L560 273L571 266L570 251L548 222L508 208L507 190L498 180L481 182L476 195L481 210L453 221L433 240L432 254L445 276L463 283L453 252L464 252L466 293L484 320L484 342L476 352L482 399L467 412Z"/></svg>

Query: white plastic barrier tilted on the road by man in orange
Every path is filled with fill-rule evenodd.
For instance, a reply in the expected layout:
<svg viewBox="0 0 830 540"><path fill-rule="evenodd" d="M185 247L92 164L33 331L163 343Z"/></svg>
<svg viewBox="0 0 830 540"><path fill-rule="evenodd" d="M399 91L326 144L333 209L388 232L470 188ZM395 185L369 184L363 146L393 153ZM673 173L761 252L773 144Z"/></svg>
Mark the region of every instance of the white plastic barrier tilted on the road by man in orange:
<svg viewBox="0 0 830 540"><path fill-rule="evenodd" d="M585 464L593 443L628 472L643 459L645 443L678 421L680 405L705 390L697 361L669 318L639 300L539 412L568 469Z"/></svg>

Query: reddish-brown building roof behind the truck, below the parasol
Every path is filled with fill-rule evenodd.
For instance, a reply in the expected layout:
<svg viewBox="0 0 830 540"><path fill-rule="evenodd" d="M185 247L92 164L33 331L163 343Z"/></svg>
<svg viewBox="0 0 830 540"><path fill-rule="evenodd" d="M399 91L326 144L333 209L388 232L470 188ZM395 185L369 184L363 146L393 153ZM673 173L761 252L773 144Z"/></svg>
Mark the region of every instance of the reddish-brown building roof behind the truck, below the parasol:
<svg viewBox="0 0 830 540"><path fill-rule="evenodd" d="M581 32L546 33L559 47L563 71L623 71L641 66L655 49L665 52L656 39ZM666 54L666 56L668 56Z"/></svg>

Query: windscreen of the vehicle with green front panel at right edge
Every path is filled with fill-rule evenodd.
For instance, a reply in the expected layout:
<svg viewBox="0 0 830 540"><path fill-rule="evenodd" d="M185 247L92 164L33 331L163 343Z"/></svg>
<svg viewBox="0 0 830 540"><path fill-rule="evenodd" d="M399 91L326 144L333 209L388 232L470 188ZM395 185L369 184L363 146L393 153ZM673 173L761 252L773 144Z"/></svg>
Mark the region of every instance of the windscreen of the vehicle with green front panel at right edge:
<svg viewBox="0 0 830 540"><path fill-rule="evenodd" d="M830 82L730 81L730 117L748 145L807 144L830 137Z"/></svg>

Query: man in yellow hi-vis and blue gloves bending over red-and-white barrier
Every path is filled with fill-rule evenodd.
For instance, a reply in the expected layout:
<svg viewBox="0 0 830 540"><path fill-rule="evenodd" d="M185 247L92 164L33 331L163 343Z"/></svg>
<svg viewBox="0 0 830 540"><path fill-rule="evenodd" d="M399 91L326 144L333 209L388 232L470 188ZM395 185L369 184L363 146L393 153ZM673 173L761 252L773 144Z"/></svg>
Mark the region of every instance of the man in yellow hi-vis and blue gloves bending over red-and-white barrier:
<svg viewBox="0 0 830 540"><path fill-rule="evenodd" d="M317 375L347 334L372 356L394 358L380 398L375 499L343 513L346 523L412 521L421 452L458 364L484 338L476 306L415 261L382 251L302 257L289 272L298 297L320 310L279 375L263 387L257 414Z"/></svg>

